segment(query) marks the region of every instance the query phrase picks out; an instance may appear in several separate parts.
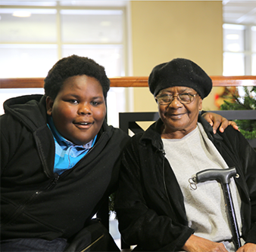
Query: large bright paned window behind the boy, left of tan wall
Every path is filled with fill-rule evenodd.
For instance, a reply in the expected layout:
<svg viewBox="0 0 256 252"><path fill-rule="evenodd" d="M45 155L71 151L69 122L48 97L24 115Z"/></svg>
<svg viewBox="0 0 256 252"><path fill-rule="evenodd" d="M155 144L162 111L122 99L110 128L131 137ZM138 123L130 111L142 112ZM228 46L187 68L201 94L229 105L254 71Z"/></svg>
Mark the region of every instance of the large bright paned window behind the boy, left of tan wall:
<svg viewBox="0 0 256 252"><path fill-rule="evenodd" d="M87 3L90 6L80 1L1 2L0 78L45 77L59 59L72 54L105 66L108 77L125 75L125 5ZM2 90L1 103L24 92L43 94L41 89ZM109 124L118 126L123 101L125 88L111 88Z"/></svg>

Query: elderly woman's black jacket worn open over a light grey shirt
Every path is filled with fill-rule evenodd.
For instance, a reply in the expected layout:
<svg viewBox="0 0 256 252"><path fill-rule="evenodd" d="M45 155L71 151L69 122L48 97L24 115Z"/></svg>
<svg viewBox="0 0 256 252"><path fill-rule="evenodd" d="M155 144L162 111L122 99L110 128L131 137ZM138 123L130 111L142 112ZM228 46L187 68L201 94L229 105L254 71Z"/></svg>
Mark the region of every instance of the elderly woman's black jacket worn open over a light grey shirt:
<svg viewBox="0 0 256 252"><path fill-rule="evenodd" d="M235 181L242 199L242 238L256 243L256 152L232 127L213 134L200 115L198 121L226 164L236 167L239 177ZM144 133L133 136L124 150L120 170L115 205L120 233L127 244L137 244L143 251L182 250L194 232L188 226L183 193L164 156L162 124L159 119Z"/></svg>

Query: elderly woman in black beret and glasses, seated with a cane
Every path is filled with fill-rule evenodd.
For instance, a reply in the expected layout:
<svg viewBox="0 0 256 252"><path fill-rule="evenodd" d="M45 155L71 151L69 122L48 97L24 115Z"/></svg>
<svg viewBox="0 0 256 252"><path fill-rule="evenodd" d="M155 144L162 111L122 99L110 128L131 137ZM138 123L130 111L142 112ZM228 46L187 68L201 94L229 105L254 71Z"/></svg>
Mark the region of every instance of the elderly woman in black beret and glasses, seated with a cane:
<svg viewBox="0 0 256 252"><path fill-rule="evenodd" d="M116 210L136 251L235 251L220 183L195 184L205 169L236 167L230 189L242 247L256 251L256 152L231 126L214 134L199 115L211 78L191 60L155 66L148 85L160 119L123 153Z"/></svg>

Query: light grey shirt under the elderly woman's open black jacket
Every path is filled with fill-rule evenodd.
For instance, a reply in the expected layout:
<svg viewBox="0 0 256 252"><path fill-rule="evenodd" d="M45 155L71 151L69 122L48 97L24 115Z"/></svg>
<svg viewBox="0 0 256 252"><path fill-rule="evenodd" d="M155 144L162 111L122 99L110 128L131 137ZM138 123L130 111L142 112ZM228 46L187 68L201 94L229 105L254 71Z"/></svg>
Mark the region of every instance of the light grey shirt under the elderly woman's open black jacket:
<svg viewBox="0 0 256 252"><path fill-rule="evenodd" d="M194 177L198 171L228 168L214 144L208 139L204 128L198 123L198 127L182 139L162 140L166 158L184 195L189 227L195 229L195 235L211 241L224 242L227 250L235 251L233 243L226 241L230 240L232 235L220 183L212 180L198 183L195 190L190 187L189 178ZM241 200L233 178L229 186L241 233Z"/></svg>

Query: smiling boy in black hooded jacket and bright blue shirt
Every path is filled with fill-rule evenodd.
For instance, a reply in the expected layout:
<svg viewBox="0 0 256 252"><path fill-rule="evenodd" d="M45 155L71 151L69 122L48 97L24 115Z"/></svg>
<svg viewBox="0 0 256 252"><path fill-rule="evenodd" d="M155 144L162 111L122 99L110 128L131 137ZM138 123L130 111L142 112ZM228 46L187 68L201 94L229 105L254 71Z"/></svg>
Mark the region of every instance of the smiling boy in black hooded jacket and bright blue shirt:
<svg viewBox="0 0 256 252"><path fill-rule="evenodd" d="M91 220L117 186L129 139L105 122L105 69L63 58L44 88L7 100L0 117L0 250L118 251Z"/></svg>

